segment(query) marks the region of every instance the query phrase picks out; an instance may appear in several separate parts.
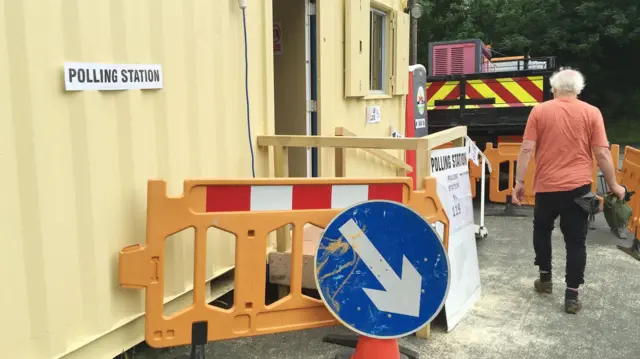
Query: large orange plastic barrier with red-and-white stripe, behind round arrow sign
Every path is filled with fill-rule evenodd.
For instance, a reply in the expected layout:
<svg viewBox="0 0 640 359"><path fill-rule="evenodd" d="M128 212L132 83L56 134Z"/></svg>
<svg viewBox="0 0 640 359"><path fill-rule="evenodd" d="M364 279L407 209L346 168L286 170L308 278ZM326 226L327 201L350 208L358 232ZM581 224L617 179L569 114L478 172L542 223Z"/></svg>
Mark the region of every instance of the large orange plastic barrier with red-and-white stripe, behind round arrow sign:
<svg viewBox="0 0 640 359"><path fill-rule="evenodd" d="M120 285L146 289L145 340L155 348L187 345L192 326L207 341L337 325L324 303L302 294L303 228L325 227L343 208L372 199L404 203L431 223L449 221L437 197L435 178L412 191L411 178L187 180L180 197L166 195L166 182L147 186L147 239L120 252ZM293 225L291 290L265 305L267 237ZM195 229L193 303L170 317L163 315L165 238ZM236 235L234 304L224 310L206 303L207 229Z"/></svg>

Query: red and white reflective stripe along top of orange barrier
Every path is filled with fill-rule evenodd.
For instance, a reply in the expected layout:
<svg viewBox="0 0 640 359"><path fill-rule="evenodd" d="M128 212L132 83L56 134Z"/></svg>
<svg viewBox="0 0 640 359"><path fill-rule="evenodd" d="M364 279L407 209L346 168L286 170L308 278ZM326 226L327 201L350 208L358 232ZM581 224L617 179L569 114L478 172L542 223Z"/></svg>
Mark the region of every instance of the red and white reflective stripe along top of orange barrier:
<svg viewBox="0 0 640 359"><path fill-rule="evenodd" d="M402 203L402 183L207 186L207 212L346 208L367 200Z"/></svg>

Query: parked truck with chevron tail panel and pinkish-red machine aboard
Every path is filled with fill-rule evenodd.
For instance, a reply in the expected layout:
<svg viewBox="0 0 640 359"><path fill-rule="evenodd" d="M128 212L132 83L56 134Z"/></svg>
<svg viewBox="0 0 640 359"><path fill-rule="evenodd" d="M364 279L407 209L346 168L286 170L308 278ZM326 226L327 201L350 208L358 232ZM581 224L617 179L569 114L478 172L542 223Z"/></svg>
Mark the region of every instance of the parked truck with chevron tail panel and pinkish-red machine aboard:
<svg viewBox="0 0 640 359"><path fill-rule="evenodd" d="M480 39L429 43L426 83L429 133L467 126L487 142L520 142L531 108L552 98L553 56L494 58Z"/></svg>

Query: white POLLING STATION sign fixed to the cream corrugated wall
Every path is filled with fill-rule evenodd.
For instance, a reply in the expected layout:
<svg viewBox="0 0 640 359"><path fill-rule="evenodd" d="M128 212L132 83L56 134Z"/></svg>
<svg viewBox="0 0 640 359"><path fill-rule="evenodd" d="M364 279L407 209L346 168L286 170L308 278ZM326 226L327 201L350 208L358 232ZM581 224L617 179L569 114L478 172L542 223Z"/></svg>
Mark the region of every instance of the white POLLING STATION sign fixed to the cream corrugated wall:
<svg viewBox="0 0 640 359"><path fill-rule="evenodd" d="M162 66L66 62L64 84L67 91L161 89Z"/></svg>

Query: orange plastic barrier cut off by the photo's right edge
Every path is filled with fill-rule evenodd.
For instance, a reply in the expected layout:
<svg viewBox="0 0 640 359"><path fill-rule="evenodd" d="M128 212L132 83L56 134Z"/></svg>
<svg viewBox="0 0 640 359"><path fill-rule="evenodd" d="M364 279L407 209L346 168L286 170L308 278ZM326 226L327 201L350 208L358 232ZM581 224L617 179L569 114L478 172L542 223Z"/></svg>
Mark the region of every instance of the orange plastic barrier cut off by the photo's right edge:
<svg viewBox="0 0 640 359"><path fill-rule="evenodd" d="M629 205L633 210L633 216L629 220L629 231L640 240L640 150L626 146L624 148L624 160L620 172L620 184L635 191Z"/></svg>

